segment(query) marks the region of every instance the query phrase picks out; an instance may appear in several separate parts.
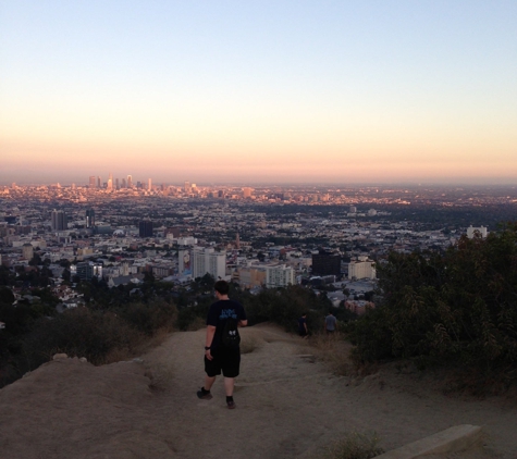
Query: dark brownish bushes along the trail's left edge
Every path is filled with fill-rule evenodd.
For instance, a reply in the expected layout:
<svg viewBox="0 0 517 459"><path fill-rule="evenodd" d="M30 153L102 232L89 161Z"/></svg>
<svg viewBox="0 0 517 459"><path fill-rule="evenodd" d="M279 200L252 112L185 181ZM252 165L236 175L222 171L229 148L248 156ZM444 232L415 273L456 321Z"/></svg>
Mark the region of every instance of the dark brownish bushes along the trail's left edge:
<svg viewBox="0 0 517 459"><path fill-rule="evenodd" d="M30 313L25 305L16 308L0 305L1 311L4 315L12 311L17 315ZM10 320L9 333L0 336L0 345L4 345L0 349L0 387L35 370L58 352L86 357L94 364L110 361L113 355L130 358L146 337L159 330L171 331L175 321L175 306L161 299L130 303L111 311L77 308L53 318L40 317L32 322L24 319L24 330L13 327L15 321Z"/></svg>

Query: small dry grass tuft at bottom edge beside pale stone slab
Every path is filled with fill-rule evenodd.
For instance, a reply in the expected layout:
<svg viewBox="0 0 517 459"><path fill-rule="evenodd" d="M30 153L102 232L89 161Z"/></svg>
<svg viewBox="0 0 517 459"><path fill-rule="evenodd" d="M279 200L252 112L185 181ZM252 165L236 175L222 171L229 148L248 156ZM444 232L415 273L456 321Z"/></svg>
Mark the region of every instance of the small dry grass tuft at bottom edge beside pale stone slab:
<svg viewBox="0 0 517 459"><path fill-rule="evenodd" d="M384 452L379 447L379 442L380 438L376 432L368 434L350 432L324 448L322 459L371 459Z"/></svg>

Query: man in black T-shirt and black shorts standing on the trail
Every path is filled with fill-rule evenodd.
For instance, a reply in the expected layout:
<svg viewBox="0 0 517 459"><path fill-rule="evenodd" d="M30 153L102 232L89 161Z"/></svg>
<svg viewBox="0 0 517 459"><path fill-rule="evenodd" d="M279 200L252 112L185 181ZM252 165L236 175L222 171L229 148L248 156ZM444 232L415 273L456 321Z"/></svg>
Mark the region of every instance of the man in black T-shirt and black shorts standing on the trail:
<svg viewBox="0 0 517 459"><path fill-rule="evenodd" d="M233 388L235 377L238 376L241 367L241 348L238 343L237 326L246 326L246 312L243 306L227 297L230 285L225 281L218 281L214 285L216 298L210 306L207 318L207 336L205 340L205 385L197 392L197 396L210 400L210 388L216 377L224 376L226 392L226 405L230 409L235 408Z"/></svg>

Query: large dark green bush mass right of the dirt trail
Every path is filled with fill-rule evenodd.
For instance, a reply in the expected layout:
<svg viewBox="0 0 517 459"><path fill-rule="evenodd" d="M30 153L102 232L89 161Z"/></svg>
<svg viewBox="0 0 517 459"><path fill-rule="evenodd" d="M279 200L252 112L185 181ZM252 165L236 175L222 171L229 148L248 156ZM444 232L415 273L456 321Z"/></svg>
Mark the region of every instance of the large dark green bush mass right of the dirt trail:
<svg viewBox="0 0 517 459"><path fill-rule="evenodd" d="M356 357L418 357L517 379L517 225L444 255L392 252L382 303L355 323Z"/></svg>

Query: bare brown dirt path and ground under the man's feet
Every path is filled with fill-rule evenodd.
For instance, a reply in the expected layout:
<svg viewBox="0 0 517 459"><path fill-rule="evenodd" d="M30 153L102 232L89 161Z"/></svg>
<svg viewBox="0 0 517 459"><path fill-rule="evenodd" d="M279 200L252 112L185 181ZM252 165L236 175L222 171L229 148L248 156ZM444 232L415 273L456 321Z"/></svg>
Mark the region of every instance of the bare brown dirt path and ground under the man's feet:
<svg viewBox="0 0 517 459"><path fill-rule="evenodd" d="M205 332L176 333L143 362L56 360L1 389L0 457L311 458L350 431L376 431L389 450L457 424L482 425L487 446L450 458L517 457L515 402L445 397L393 371L335 376L274 326L242 335L256 347L243 355L237 409L226 409L222 380L212 400L196 397Z"/></svg>

